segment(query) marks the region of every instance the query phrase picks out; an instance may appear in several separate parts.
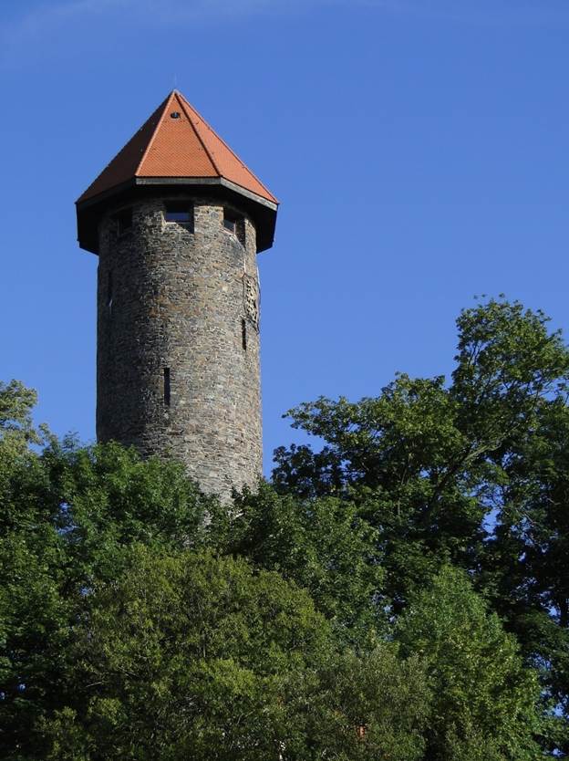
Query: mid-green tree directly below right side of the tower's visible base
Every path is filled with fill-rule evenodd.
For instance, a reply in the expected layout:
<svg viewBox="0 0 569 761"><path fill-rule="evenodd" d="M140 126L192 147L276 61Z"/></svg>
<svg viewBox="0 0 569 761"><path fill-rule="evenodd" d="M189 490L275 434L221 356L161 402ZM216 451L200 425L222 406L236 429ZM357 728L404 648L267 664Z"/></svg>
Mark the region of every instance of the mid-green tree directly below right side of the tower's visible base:
<svg viewBox="0 0 569 761"><path fill-rule="evenodd" d="M310 592L336 635L374 641L386 620L377 532L357 507L336 497L304 500L261 484L212 514L208 540L218 551L249 558Z"/></svg>

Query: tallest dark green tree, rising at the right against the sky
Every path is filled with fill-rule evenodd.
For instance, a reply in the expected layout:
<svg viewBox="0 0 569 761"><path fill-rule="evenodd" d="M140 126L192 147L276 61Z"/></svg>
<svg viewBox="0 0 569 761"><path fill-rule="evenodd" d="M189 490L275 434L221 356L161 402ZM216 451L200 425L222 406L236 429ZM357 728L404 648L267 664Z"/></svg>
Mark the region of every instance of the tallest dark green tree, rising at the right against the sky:
<svg viewBox="0 0 569 761"><path fill-rule="evenodd" d="M324 446L277 450L274 485L357 505L396 616L444 565L468 569L569 719L569 351L543 312L504 299L457 327L449 381L400 375L378 398L289 412ZM569 752L564 726L550 751Z"/></svg>

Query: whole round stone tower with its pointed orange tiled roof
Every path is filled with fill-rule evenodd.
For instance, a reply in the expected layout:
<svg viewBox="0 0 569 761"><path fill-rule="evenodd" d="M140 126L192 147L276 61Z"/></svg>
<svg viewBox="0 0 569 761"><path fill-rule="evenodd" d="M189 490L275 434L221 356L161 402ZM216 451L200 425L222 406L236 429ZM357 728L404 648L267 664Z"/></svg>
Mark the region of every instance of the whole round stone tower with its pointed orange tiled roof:
<svg viewBox="0 0 569 761"><path fill-rule="evenodd" d="M174 90L77 202L98 254L97 436L208 493L261 474L259 279L277 201Z"/></svg>

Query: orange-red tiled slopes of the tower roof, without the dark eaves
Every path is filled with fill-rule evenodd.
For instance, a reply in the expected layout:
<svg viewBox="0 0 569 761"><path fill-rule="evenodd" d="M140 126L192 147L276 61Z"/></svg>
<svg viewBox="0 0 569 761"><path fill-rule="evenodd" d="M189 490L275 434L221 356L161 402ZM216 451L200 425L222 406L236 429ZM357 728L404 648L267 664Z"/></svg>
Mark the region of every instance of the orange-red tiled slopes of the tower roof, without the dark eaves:
<svg viewBox="0 0 569 761"><path fill-rule="evenodd" d="M278 203L178 90L160 104L78 203L137 177L223 178Z"/></svg>

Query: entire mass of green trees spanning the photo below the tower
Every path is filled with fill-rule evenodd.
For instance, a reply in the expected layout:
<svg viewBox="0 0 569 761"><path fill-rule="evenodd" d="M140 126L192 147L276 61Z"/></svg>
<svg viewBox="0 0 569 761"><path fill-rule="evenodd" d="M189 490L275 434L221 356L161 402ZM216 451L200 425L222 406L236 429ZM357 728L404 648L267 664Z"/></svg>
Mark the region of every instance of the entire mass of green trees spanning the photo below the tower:
<svg viewBox="0 0 569 761"><path fill-rule="evenodd" d="M569 351L505 299L457 328L230 505L0 384L0 756L566 756Z"/></svg>

